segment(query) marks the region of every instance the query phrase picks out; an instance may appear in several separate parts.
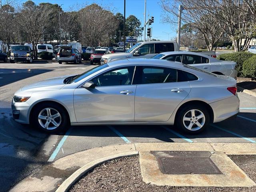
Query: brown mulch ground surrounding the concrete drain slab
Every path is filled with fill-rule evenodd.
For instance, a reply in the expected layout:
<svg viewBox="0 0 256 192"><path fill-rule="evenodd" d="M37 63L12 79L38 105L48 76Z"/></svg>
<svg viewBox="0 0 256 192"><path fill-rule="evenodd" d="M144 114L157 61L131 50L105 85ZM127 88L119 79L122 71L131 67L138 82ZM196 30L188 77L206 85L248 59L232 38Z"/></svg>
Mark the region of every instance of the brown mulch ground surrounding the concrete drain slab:
<svg viewBox="0 0 256 192"><path fill-rule="evenodd" d="M256 155L230 158L256 181ZM142 181L139 156L111 160L94 168L70 188L70 192L248 192L256 187L175 187L156 186Z"/></svg>

